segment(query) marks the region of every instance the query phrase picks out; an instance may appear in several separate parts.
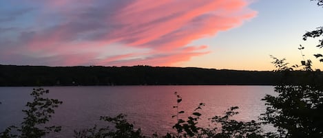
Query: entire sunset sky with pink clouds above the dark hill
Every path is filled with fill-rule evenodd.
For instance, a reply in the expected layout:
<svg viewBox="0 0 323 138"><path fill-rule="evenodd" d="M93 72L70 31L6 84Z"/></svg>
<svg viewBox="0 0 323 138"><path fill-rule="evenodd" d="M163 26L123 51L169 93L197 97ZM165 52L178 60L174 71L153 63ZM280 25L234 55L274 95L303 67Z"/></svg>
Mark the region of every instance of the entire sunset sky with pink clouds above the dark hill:
<svg viewBox="0 0 323 138"><path fill-rule="evenodd" d="M315 69L323 8L309 0L0 1L0 65Z"/></svg>

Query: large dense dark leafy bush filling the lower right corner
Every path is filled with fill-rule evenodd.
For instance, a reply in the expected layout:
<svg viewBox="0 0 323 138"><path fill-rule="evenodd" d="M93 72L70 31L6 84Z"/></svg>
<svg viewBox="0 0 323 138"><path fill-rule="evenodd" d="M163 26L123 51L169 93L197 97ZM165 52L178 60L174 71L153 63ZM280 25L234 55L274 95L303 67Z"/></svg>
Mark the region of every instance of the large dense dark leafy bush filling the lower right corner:
<svg viewBox="0 0 323 138"><path fill-rule="evenodd" d="M275 67L280 67L277 71L283 73L284 77L275 86L278 95L266 95L262 99L266 102L267 111L261 119L278 128L279 137L323 137L322 72L313 71L311 64L302 65L305 66L306 77L298 78L298 85L291 85L286 83L291 68L284 60L273 59Z"/></svg>

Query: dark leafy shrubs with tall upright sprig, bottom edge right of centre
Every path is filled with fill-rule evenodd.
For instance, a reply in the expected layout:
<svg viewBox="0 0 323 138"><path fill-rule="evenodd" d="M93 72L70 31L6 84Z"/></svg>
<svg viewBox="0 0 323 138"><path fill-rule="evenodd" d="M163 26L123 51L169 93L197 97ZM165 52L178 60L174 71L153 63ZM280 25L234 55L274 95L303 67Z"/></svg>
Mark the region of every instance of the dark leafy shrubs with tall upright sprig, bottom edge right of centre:
<svg viewBox="0 0 323 138"><path fill-rule="evenodd" d="M174 137L215 137L215 138L230 138L230 137L265 137L262 135L262 129L260 128L260 123L251 120L251 122L240 122L235 119L231 119L233 115L237 115L238 112L235 110L238 109L238 106L233 106L229 108L224 116L214 116L211 119L211 124L209 127L200 127L197 126L198 119L200 119L201 113L196 111L202 109L202 106L205 106L204 103L200 103L196 109L194 109L194 113L187 117L186 120L180 119L178 117L179 114L184 113L185 111L178 111L179 103L182 101L182 97L175 92L177 97L177 106L176 115L172 117L177 118L177 123L173 126L176 129L177 134L172 135L171 133L167 133L164 137L166 138L174 138Z"/></svg>

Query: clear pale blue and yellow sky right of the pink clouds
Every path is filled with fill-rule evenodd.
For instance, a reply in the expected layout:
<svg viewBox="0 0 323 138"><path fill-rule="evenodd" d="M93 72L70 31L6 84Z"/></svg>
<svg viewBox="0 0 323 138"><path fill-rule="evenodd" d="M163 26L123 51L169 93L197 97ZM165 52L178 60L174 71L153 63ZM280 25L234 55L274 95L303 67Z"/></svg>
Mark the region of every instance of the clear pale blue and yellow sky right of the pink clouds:
<svg viewBox="0 0 323 138"><path fill-rule="evenodd" d="M323 25L320 18L323 8L306 0L260 0L249 7L258 12L257 16L215 37L196 41L216 46L208 58L196 58L199 61L187 62L187 66L198 62L198 66L218 69L271 70L274 67L269 55L286 58L290 65L300 65L302 56L298 47L303 45L305 58L311 59L315 68L322 69L322 63L313 56L322 53L322 49L315 47L318 39L302 41L302 35Z"/></svg>

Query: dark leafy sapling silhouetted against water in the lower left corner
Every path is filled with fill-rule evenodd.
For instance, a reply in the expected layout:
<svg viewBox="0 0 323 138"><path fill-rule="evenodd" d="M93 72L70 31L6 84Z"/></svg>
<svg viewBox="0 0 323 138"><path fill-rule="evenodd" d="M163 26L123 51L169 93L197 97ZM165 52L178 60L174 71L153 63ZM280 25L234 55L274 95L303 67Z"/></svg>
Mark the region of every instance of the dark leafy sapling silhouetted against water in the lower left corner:
<svg viewBox="0 0 323 138"><path fill-rule="evenodd" d="M50 121L52 114L54 114L54 108L57 108L63 102L43 97L45 93L49 93L49 91L41 88L33 89L30 95L34 99L25 105L28 109L23 110L25 117L23 118L21 126L10 126L6 128L5 131L0 133L0 137L39 138L44 137L52 131L59 132L61 126L45 126L45 124Z"/></svg>

